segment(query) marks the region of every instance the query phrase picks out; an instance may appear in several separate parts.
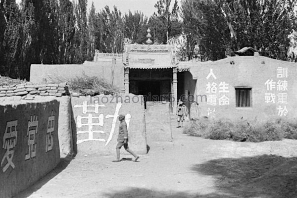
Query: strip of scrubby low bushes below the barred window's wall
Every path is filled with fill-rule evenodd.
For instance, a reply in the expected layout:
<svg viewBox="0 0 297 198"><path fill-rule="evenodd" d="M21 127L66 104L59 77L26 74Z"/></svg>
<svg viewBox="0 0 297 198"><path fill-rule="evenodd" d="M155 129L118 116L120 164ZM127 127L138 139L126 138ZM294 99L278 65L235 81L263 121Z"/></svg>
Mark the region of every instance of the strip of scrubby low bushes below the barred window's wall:
<svg viewBox="0 0 297 198"><path fill-rule="evenodd" d="M266 122L257 120L191 120L185 124L183 133L212 140L240 142L277 141L284 138L297 139L297 120L276 119Z"/></svg>

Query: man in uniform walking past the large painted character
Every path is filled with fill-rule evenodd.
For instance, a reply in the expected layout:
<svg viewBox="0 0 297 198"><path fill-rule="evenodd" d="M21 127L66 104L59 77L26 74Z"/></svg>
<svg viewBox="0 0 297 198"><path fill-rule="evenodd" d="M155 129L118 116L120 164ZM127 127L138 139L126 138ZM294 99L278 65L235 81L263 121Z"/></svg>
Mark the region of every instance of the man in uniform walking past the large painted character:
<svg viewBox="0 0 297 198"><path fill-rule="evenodd" d="M119 115L120 127L119 127L119 135L118 135L118 144L116 145L116 160L112 162L120 162L120 149L124 146L125 150L132 154L135 157L134 161L139 159L139 156L135 154L129 147L128 147L128 129L127 123L125 121L125 115Z"/></svg>

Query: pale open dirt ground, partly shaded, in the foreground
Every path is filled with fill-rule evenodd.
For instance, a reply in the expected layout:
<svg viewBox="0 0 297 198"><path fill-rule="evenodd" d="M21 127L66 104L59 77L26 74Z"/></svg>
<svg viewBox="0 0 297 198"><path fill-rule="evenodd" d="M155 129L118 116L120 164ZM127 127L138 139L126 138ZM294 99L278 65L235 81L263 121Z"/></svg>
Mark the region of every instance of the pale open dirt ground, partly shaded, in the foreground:
<svg viewBox="0 0 297 198"><path fill-rule="evenodd" d="M173 142L148 143L139 162L78 153L15 198L297 198L297 140L214 141L174 126Z"/></svg>

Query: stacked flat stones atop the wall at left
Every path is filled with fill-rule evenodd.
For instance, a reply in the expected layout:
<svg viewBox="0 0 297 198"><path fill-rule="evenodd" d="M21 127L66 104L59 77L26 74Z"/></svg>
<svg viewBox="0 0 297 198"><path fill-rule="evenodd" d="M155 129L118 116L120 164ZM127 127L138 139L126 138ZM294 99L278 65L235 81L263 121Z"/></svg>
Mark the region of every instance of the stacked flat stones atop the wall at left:
<svg viewBox="0 0 297 198"><path fill-rule="evenodd" d="M22 99L33 100L35 96L61 97L67 95L69 95L67 82L42 85L22 83L18 85L0 87L0 97L21 96Z"/></svg>

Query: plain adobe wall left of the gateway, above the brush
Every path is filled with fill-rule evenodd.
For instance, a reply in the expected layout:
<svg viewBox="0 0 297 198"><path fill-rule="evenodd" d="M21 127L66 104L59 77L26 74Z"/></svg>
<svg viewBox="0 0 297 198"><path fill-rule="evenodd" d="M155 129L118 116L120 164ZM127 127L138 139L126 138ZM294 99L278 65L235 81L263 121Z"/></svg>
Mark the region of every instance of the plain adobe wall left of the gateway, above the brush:
<svg viewBox="0 0 297 198"><path fill-rule="evenodd" d="M124 90L124 67L123 61L90 62L84 64L64 64L64 65L44 65L32 64L30 67L30 82L49 83L49 82L69 82L72 78L87 76L98 76L105 79L108 83L117 87L120 91Z"/></svg>

